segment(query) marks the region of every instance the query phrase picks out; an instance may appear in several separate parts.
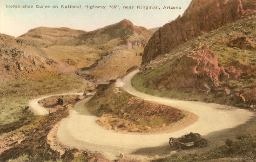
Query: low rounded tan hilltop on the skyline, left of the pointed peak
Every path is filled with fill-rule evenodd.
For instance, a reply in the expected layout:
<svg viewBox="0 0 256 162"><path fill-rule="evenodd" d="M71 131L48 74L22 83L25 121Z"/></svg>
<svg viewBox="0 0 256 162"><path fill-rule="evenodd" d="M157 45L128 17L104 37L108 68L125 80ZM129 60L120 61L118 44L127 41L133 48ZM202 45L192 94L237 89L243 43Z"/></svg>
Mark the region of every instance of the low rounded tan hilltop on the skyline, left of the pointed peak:
<svg viewBox="0 0 256 162"><path fill-rule="evenodd" d="M22 34L18 39L36 41L41 45L56 45L78 37L86 33L82 30L69 29L67 27L37 27Z"/></svg>

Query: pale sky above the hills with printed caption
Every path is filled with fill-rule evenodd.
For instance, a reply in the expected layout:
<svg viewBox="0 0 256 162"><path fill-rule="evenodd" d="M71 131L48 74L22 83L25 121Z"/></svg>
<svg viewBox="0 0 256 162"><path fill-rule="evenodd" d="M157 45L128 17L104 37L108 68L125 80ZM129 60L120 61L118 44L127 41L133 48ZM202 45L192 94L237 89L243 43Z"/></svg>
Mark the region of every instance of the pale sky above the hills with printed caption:
<svg viewBox="0 0 256 162"><path fill-rule="evenodd" d="M28 30L45 27L68 27L92 31L115 24L122 19L148 29L160 27L183 14L191 0L0 0L0 33L18 37ZM8 8L7 5L20 5ZM23 5L33 8L22 8ZM50 8L36 8L50 6ZM81 9L61 8L61 5L81 5ZM103 9L85 9L85 5L106 6ZM118 6L115 9L109 5ZM53 8L58 6L58 8ZM134 6L134 9L123 9ZM159 6L161 9L137 9L137 6ZM163 9L163 6L181 6L182 9ZM119 9L120 8L120 9Z"/></svg>

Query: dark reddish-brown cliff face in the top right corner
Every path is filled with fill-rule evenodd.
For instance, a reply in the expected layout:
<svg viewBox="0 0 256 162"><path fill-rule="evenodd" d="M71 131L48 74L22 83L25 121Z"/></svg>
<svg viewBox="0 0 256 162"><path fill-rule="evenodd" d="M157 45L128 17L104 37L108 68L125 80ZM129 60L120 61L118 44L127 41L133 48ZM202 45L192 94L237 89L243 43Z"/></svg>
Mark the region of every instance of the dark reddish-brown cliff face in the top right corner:
<svg viewBox="0 0 256 162"><path fill-rule="evenodd" d="M192 0L185 13L157 30L144 49L142 63L225 24L256 13L256 0Z"/></svg>

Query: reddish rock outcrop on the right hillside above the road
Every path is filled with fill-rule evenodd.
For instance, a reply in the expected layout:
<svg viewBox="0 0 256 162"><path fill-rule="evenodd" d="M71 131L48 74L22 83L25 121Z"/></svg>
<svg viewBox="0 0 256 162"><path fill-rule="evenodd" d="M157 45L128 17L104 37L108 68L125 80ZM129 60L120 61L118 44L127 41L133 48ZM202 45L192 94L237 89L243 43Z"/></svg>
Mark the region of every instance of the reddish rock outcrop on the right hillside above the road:
<svg viewBox="0 0 256 162"><path fill-rule="evenodd" d="M229 74L218 65L216 54L207 48L186 53L169 71L154 80L152 88L208 94L227 78Z"/></svg>

